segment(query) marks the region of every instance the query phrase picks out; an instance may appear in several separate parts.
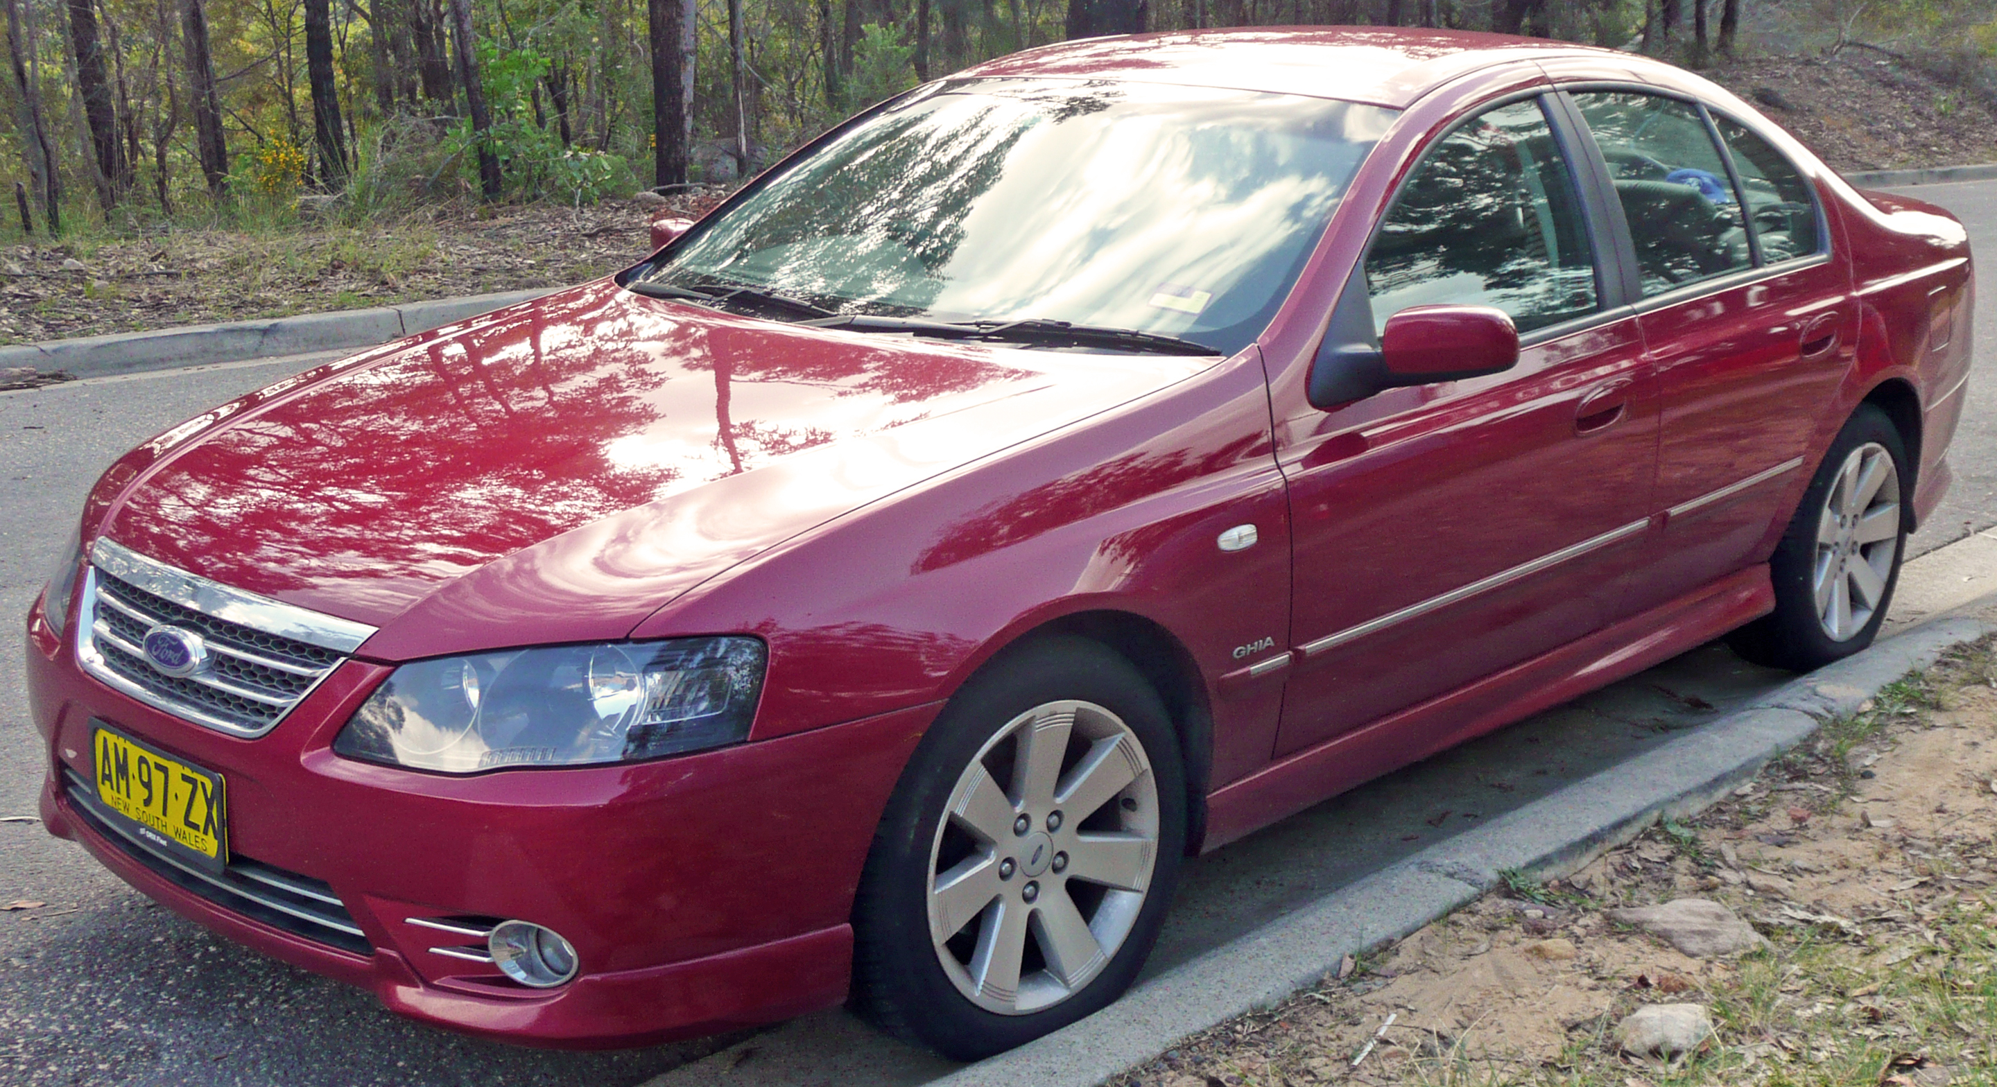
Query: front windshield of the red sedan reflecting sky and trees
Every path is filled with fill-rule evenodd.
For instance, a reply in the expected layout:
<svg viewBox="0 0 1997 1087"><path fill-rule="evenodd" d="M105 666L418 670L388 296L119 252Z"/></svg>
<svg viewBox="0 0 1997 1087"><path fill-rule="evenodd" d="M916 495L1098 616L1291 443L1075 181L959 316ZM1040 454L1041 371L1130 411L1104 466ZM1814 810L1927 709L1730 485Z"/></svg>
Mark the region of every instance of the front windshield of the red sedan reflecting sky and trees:
<svg viewBox="0 0 1997 1087"><path fill-rule="evenodd" d="M939 84L763 180L637 282L1232 354L1274 316L1392 118L1244 90Z"/></svg>

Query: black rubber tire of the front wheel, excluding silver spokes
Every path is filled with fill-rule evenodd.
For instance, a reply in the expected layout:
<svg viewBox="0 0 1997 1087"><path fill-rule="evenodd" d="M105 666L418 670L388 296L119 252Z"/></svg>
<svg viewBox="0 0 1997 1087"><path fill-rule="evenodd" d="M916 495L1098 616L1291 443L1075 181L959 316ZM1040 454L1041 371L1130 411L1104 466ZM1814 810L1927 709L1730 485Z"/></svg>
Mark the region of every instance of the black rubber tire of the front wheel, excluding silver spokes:
<svg viewBox="0 0 1997 1087"><path fill-rule="evenodd" d="M1006 781L1012 785L1022 781L1022 777L1014 775L1014 767L1004 763L1004 759L1014 757L1006 755L1006 745L1022 743L1016 737L1032 731L1018 725L1024 713L1060 701L1106 709L1124 725L1126 733L1136 737L1140 743L1138 753L1148 761L1154 805L1150 803L1150 791L1140 787L1144 775L1138 773L1130 785L1110 793L1110 801L1098 803L1092 807L1092 813L1076 815L1072 823L1066 823L1070 839L1056 835L1060 827L1046 831L1046 835L1056 837L1042 835L1038 825L1030 823L1034 815L1016 815L1026 817L1028 825L1034 827L1030 837L997 843L987 843L967 833L961 825L947 823L945 809L953 803L953 795L965 787L965 781L971 779L969 767L973 759L985 765L993 783L1006 787L1008 793L1018 791L1004 785ZM1094 727L1108 727L1104 723L1106 717L1094 713L1094 709L1088 709L1094 715ZM1066 755L1060 765L1068 767L1066 773L1072 773L1080 765L1074 743L1080 743L1084 751L1100 749L1100 741L1084 737L1084 721L1080 717L1076 717L1072 733L1062 735L1072 735L1062 745ZM997 747L993 747L995 743ZM1016 747L1016 757L1024 761L1024 747ZM1106 763L1108 759L1102 761ZM1074 779L1076 775L1062 777L1064 783ZM1146 797L1144 805L1154 807L1154 813L1138 813L1138 795ZM959 795L957 799L961 801L963 797ZM1008 803L1014 803L1014 811L1032 811L1032 803L1018 801L1016 797ZM1056 811L1044 819L1054 821L1058 817L1060 813ZM1030 845L1032 841L1044 839L1048 843L1046 849L1056 849L1058 843L1070 841L1068 847L1074 847L1080 857L1084 833L1124 829L1126 821L1138 817L1146 825L1154 823L1156 829L1156 849L1152 851L1152 859L1146 861L1150 863L1150 879L1140 891L1102 891L1098 885L1082 879L1070 883L1068 877L1056 875L1062 871L1060 867L1028 867L1050 863L1038 859L1040 853L1036 845ZM1108 819L1108 823L1102 819ZM987 819L989 823L991 819ZM1128 929L1120 943L1108 951L1106 965L1090 961L1098 969L1092 979L1084 979L1088 975L1076 971L1070 995L1036 1011L1020 1011L1028 1007L1026 991L1030 979L1026 971L1018 971L1020 977L1012 987L1020 1009L1000 1013L975 1003L973 993L961 987L969 979L969 971L953 975L945 967L943 955L953 955L953 947L967 941L975 943L983 925L997 925L995 917L998 913L995 905L967 913L973 919L959 929L953 943L931 937L931 889L939 885L937 869L949 863L945 841L953 833L963 843L969 843L971 849L967 859L957 861L957 871L969 863L998 865L1000 859L1014 865L1010 869L1012 875L1006 877L1004 893L1018 895L1026 873L1038 871L1032 877L1034 887L1042 887L1040 881L1044 881L1044 889L1038 891L1038 899L1024 899L1036 901L1036 905L1010 905L1018 899L1004 899L1004 903L997 905L997 909L1022 909L1024 913L1014 913L1012 917L1030 917L1028 925L1042 921L1038 913L1042 907L1072 903L1078 911L1076 915L1080 915L1088 913L1088 909L1106 909L1112 893L1122 895L1118 899L1118 909L1122 911L1118 925L1128 925ZM1184 841L1186 787L1178 737L1164 701L1144 681L1142 673L1106 645L1074 635L1038 637L1008 649L951 697L935 725L931 725L929 735L923 737L909 759L895 795L889 799L887 813L881 819L881 829L875 833L873 851L861 875L853 909L857 941L853 959L855 1009L885 1031L907 1041L927 1045L957 1061L977 1061L1060 1029L1108 1005L1130 987L1138 967L1150 955L1150 947L1170 905L1172 889L1178 883ZM1026 857L1028 847L1034 849L1032 861ZM1018 857L1010 853L1018 853ZM981 861L979 857L985 859ZM1068 863L1066 853L1048 853L1048 857L1058 857L1058 861L1052 861L1058 865ZM997 877L998 871L1000 867L993 867L991 877ZM1074 875L1072 869L1070 875ZM1074 891L1072 897L1070 887ZM1128 897L1132 893L1142 895L1140 903ZM1060 895L1060 899L1052 895ZM1084 907L1090 895L1096 895L1094 905ZM947 921L939 921L939 927L947 925ZM1034 947L1040 947L1036 941L1044 939L1042 931L1028 929L1030 935L1024 937L1026 951L1020 957L1032 961ZM1054 979L1054 989L1066 989L1066 983L1050 967L1052 959L1048 953L1042 949L1038 955L1044 969L1036 977ZM1052 989L1042 987L1042 991ZM977 995L983 997L987 993L979 989Z"/></svg>

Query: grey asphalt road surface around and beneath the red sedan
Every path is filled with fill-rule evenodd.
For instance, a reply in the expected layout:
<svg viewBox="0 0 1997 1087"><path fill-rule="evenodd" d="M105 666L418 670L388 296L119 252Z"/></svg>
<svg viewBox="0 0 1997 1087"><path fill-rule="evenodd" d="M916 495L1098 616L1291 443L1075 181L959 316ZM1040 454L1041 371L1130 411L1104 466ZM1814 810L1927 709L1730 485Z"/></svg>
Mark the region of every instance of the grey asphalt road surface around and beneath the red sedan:
<svg viewBox="0 0 1997 1087"><path fill-rule="evenodd" d="M1997 184L1909 190L1997 252ZM1979 284L1977 358L1997 350L1997 276ZM0 615L18 621L82 494L112 458L216 404L310 366L260 360L0 394ZM1913 544L1925 553L1997 526L1997 382L1971 384L1955 490ZM0 637L0 817L34 815L42 755L22 643ZM1695 729L1781 675L1705 647L1478 743L1318 805L1202 857L1150 969L1180 963L1302 901ZM154 907L34 821L0 823L0 1083L633 1085L739 1039L625 1053L549 1053L395 1019L367 993L214 939ZM725 1057L731 1083L917 1083L943 1065L843 1013L765 1033ZM675 1071L677 1069L677 1071Z"/></svg>

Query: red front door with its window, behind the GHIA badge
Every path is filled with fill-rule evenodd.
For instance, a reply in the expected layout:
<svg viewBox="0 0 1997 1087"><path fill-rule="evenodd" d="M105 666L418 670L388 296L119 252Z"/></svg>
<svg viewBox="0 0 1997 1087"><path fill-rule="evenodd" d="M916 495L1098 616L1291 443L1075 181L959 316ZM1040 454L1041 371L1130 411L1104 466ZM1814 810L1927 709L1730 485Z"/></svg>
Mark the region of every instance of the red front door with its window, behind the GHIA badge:
<svg viewBox="0 0 1997 1087"><path fill-rule="evenodd" d="M1620 613L1658 410L1570 162L1540 98L1458 124L1410 172L1346 288L1366 292L1374 332L1410 306L1498 306L1522 352L1506 374L1334 408L1280 450L1302 653L1278 755Z"/></svg>

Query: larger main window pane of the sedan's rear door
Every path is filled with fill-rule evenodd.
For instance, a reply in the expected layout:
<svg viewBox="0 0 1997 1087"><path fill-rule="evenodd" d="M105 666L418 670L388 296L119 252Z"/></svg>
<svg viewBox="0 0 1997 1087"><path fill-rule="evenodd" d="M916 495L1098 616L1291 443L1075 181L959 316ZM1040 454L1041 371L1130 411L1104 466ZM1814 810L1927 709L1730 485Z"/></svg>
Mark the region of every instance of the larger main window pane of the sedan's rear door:
<svg viewBox="0 0 1997 1087"><path fill-rule="evenodd" d="M1616 180L1646 296L1753 266L1733 182L1695 106L1620 92L1574 102Z"/></svg>

